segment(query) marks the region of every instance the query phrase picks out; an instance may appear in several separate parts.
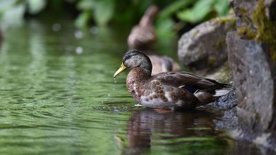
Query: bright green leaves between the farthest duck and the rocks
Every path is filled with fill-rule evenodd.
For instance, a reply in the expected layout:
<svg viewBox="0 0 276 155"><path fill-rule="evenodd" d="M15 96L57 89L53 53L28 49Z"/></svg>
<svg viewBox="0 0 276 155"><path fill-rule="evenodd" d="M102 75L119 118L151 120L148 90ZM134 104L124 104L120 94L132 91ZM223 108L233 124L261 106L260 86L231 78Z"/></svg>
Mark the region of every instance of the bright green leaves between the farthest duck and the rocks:
<svg viewBox="0 0 276 155"><path fill-rule="evenodd" d="M228 0L178 0L161 9L157 18L157 33L173 34L172 29L181 30L187 23L197 24L213 17L228 14ZM172 20L177 19L177 23ZM176 18L175 18L176 17Z"/></svg>

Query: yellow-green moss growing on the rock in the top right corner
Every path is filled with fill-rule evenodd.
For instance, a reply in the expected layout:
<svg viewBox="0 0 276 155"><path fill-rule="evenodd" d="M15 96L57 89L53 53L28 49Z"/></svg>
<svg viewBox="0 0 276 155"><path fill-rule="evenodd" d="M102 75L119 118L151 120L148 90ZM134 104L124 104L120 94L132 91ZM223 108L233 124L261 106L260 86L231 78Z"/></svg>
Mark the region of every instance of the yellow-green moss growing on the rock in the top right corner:
<svg viewBox="0 0 276 155"><path fill-rule="evenodd" d="M252 13L253 23L257 26L255 41L263 41L270 45L270 55L276 61L276 22L266 17L264 0L259 0L257 8Z"/></svg>

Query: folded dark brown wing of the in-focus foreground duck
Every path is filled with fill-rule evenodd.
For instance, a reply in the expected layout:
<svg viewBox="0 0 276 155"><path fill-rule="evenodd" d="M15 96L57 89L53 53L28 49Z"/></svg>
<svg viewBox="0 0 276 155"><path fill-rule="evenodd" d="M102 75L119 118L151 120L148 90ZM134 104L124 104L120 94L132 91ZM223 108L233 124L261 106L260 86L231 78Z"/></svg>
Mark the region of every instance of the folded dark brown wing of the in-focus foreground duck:
<svg viewBox="0 0 276 155"><path fill-rule="evenodd" d="M164 83L164 85L185 88L192 93L197 90L215 93L215 90L230 87L230 85L218 83L213 79L201 78L188 72L163 72L152 76L151 80L153 79Z"/></svg>

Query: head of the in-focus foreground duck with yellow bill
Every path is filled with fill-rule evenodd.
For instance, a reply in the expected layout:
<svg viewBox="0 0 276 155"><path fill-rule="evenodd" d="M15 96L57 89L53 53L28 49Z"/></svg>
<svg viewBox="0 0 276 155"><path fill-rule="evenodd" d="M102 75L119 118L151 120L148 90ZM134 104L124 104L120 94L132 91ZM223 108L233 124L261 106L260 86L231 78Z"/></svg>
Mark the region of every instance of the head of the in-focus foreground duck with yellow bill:
<svg viewBox="0 0 276 155"><path fill-rule="evenodd" d="M122 59L121 67L117 72L115 72L113 77L116 77L118 74L123 72L126 68L141 68L146 74L151 74L152 64L150 59L146 54L140 52L139 50L130 50L124 54Z"/></svg>

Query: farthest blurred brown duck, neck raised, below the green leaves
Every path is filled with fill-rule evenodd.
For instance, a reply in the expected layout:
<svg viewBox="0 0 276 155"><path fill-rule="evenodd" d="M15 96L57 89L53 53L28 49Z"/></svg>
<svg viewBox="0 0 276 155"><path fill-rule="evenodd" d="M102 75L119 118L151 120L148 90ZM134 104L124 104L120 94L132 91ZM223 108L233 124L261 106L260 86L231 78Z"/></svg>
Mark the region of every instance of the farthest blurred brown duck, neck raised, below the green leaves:
<svg viewBox="0 0 276 155"><path fill-rule="evenodd" d="M153 21L157 12L157 6L150 6L141 18L139 25L132 28L128 36L128 46L130 49L148 50L150 45L155 42L157 35Z"/></svg>

